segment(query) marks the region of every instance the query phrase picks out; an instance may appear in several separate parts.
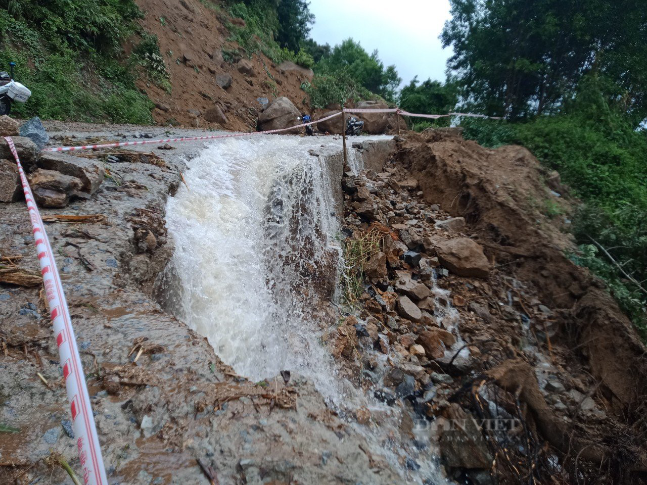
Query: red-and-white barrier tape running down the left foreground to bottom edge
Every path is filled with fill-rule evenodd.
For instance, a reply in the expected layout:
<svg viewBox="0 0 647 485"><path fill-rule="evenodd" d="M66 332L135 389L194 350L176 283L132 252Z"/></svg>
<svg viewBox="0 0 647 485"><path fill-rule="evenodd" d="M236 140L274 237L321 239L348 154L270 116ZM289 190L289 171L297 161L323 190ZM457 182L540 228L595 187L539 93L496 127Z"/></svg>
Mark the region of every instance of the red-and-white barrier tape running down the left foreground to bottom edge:
<svg viewBox="0 0 647 485"><path fill-rule="evenodd" d="M47 239L43 220L34 203L34 195L29 187L25 171L23 171L20 164L14 142L10 136L5 136L5 140L11 149L11 153L16 158L20 179L23 183L23 191L25 192L25 200L27 201L27 209L32 222L36 252L38 252L38 261L43 274L43 284L45 285L45 295L52 325L54 326L56 346L58 347L63 378L65 379L65 389L67 390L67 400L70 404L72 429L74 429L74 437L76 437L76 447L83 471L83 482L86 485L107 485L108 480L105 476L104 460L96 434L96 426L94 426L90 396L85 385L85 374L83 374L81 358L76 347L76 338L74 337L74 330L72 330L65 294L63 294L63 285L61 285L61 278L54 261L54 252L49 244L49 239Z"/></svg>

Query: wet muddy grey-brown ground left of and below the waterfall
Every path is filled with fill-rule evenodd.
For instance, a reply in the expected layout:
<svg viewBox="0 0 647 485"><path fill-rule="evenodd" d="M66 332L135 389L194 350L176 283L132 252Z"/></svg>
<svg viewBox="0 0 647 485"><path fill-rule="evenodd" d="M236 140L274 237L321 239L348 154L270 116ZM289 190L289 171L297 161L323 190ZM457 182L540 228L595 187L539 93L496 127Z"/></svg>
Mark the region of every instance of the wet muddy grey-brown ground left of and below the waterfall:
<svg viewBox="0 0 647 485"><path fill-rule="evenodd" d="M134 134L127 126L83 133L87 126L46 125L54 136L56 128L65 129L65 142ZM140 133L159 136L161 131ZM221 484L397 482L393 467L371 454L366 440L310 383L295 375L288 382L281 376L258 385L248 382L151 297L153 279L172 251L164 230L166 199L203 147L144 146L164 165L108 163L110 177L90 200L41 211L43 217L105 217L81 224L49 222L47 231L109 479L208 484L198 464L202 460ZM1 204L0 221L0 253L21 257L14 259L21 268L38 269L24 202ZM58 352L39 287L0 286L0 301L0 423L19 430L0 435L0 483L71 483L47 459L60 453L78 469Z"/></svg>

